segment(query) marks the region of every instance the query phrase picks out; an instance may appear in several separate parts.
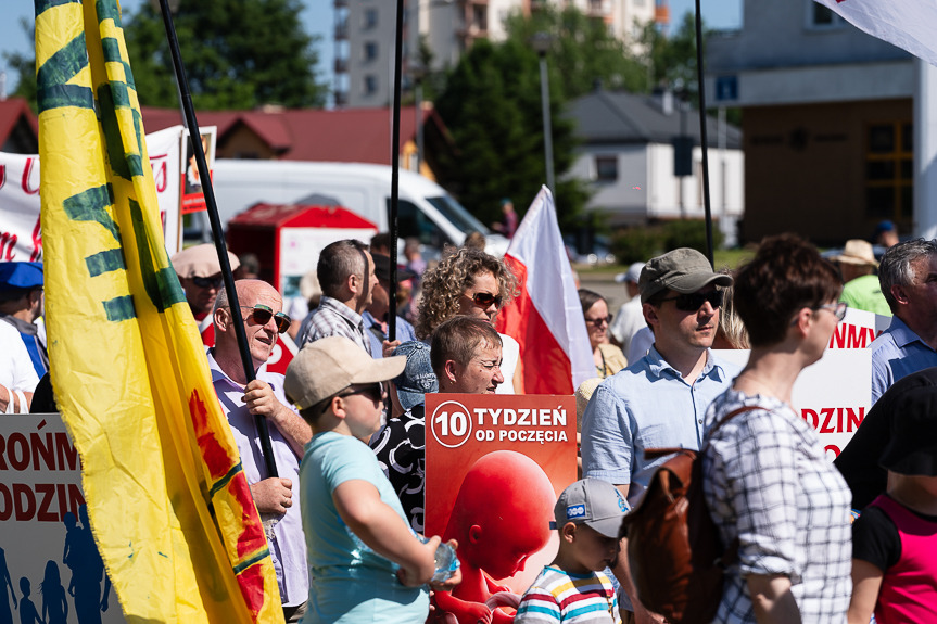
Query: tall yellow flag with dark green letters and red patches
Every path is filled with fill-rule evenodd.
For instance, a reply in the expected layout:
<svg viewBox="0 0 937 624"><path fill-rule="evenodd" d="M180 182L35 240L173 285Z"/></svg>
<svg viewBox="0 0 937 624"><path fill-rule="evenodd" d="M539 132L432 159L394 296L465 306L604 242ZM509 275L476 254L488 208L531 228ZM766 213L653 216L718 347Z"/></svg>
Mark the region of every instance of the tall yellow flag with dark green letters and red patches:
<svg viewBox="0 0 937 624"><path fill-rule="evenodd" d="M129 622L282 622L274 566L163 245L116 0L35 0L52 385Z"/></svg>

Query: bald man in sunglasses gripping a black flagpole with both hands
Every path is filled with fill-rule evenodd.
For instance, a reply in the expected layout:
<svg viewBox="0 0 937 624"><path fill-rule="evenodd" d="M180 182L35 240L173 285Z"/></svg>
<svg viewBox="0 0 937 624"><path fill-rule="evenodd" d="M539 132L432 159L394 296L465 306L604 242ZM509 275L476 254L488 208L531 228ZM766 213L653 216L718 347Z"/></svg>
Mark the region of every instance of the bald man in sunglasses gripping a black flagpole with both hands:
<svg viewBox="0 0 937 624"><path fill-rule="evenodd" d="M257 510L266 518L277 518L270 556L277 572L277 584L287 622L299 621L305 611L309 591L306 544L300 513L299 470L303 446L312 438L309 425L290 407L283 394L283 375L267 372L264 366L274 351L277 334L290 327L281 310L282 300L268 283L239 280L240 309L231 309L225 289L215 300L213 320L215 346L208 349L208 368L221 409L231 425L244 474L251 486ZM244 323L248 346L256 379L246 383L233 323ZM267 477L259 450L254 415L263 415L273 424L270 444L278 477Z"/></svg>

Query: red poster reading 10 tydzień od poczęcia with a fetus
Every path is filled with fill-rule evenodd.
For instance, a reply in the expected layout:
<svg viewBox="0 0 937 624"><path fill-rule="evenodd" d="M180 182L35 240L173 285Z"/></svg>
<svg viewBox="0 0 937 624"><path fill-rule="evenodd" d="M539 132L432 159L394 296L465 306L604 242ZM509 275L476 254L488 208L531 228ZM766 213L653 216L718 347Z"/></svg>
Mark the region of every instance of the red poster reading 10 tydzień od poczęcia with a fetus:
<svg viewBox="0 0 937 624"><path fill-rule="evenodd" d="M461 622L510 622L559 546L550 529L577 479L575 398L428 394L426 534L458 542L463 582L435 608Z"/></svg>

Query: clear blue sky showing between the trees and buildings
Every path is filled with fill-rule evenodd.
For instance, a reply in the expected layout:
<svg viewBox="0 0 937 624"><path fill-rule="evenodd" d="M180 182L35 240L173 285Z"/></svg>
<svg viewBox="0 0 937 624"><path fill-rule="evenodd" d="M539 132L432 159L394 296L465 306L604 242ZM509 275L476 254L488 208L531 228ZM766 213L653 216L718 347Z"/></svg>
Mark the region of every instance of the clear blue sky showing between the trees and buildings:
<svg viewBox="0 0 937 624"><path fill-rule="evenodd" d="M147 0L125 0L125 9L136 11L141 2ZM385 0L391 1L391 0ZM34 16L31 0L0 0L0 52L28 53L30 41L20 27L21 18L25 17L31 24ZM198 0L182 0L198 2ZM326 78L331 86L332 59L334 42L332 41L332 2L330 0L302 0L305 9L302 13L306 30L313 35L321 35L318 44L319 76ZM742 0L701 0L702 17L711 28L737 28L742 25ZM693 11L694 0L670 0L671 22L680 22L683 13ZM132 60L131 60L132 63ZM7 90L12 91L20 77L7 67L5 60L0 56L0 69L7 69Z"/></svg>

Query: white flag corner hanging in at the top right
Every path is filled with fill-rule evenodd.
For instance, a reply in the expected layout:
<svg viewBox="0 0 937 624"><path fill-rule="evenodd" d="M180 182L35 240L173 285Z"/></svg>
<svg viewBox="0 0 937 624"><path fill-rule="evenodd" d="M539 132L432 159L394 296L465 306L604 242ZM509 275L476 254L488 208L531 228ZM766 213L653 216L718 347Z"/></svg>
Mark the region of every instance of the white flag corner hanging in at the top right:
<svg viewBox="0 0 937 624"><path fill-rule="evenodd" d="M934 0L816 0L844 20L937 65L937 2Z"/></svg>

